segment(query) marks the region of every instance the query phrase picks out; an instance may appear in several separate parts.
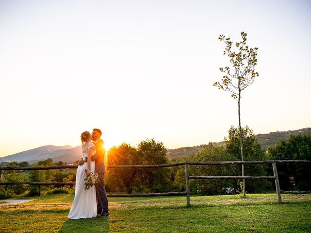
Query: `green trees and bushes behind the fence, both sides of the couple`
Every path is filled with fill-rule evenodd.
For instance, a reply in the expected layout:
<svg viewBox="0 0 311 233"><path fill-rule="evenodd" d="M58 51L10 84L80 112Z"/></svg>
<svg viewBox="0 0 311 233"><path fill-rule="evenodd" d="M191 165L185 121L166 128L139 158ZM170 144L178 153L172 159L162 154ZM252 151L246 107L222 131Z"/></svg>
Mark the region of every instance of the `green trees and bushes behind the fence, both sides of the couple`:
<svg viewBox="0 0 311 233"><path fill-rule="evenodd" d="M291 135L287 141L280 140L267 150L261 148L253 131L242 128L245 161L294 159L311 160L311 136ZM203 150L183 159L169 161L167 150L162 142L155 139L141 141L137 147L122 143L107 152L108 165L155 165L183 161L241 161L239 131L231 127L225 137L225 145L212 143L203 145ZM27 166L23 162L22 166ZM27 163L27 162L26 162ZM52 159L40 161L31 166L65 165L53 163ZM11 162L7 166L21 166ZM28 165L29 166L29 165ZM311 190L310 164L277 164L281 190ZM240 176L241 165L190 166L190 175ZM76 170L33 170L2 171L1 182L74 182ZM272 176L271 165L245 165L246 176ZM241 192L240 180L190 180L190 191L199 195L236 194ZM106 190L126 193L156 193L185 191L185 167L163 168L110 168L105 175ZM273 180L246 180L247 193L271 192L275 188ZM42 186L41 193L70 193L74 187ZM38 195L39 188L34 185L1 185L0 197L15 195Z"/></svg>

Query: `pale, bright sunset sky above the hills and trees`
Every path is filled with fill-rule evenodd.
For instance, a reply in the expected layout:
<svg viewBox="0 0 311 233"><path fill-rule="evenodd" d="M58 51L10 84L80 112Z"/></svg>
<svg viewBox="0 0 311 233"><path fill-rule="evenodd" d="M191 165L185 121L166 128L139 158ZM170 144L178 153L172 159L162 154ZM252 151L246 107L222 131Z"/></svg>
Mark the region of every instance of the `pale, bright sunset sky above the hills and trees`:
<svg viewBox="0 0 311 233"><path fill-rule="evenodd" d="M75 147L94 127L107 148L223 141L238 105L212 86L230 65L219 34L259 48L242 126L311 127L310 12L308 0L0 0L0 157Z"/></svg>

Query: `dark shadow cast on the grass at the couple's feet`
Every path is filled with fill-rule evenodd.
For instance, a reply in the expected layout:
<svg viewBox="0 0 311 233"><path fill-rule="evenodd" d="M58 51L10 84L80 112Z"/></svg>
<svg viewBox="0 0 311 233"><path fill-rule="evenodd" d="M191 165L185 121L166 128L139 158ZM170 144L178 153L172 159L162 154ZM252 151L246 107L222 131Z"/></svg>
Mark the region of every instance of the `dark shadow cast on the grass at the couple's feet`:
<svg viewBox="0 0 311 233"><path fill-rule="evenodd" d="M109 216L92 217L82 219L68 219L64 222L59 233L108 233L109 232Z"/></svg>

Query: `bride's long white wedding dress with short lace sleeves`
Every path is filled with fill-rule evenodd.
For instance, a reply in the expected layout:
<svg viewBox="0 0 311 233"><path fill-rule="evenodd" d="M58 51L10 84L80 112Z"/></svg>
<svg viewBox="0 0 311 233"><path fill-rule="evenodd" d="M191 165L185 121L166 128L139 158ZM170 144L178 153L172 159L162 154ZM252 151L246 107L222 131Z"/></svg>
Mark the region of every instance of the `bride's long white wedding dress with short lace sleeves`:
<svg viewBox="0 0 311 233"><path fill-rule="evenodd" d="M88 150L94 147L93 143L86 142L82 146L82 156L87 157ZM89 161L82 166L78 166L76 175L76 186L74 192L74 200L69 211L68 217L70 219L89 218L97 215L96 191L95 185L88 190L84 188L84 179L86 178L85 169L87 163L91 163L91 172L95 170L95 162Z"/></svg>

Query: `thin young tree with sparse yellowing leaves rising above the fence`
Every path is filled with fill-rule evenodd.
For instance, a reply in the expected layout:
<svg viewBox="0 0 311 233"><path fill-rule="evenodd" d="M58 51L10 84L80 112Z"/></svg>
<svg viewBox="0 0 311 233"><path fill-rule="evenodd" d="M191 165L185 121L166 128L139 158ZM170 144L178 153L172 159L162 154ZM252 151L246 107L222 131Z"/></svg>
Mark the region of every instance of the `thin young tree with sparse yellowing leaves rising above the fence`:
<svg viewBox="0 0 311 233"><path fill-rule="evenodd" d="M243 156L243 140L242 140L242 127L241 127L241 93L242 91L253 84L255 77L259 76L259 73L255 71L257 65L257 50L258 48L249 48L246 45L247 33L242 32L242 41L235 44L234 51L232 48L232 41L230 37L225 35L219 35L218 39L225 42L224 55L230 58L230 67L220 67L220 71L224 73L221 82L215 82L213 86L217 86L218 89L231 92L231 97L238 100L238 115L239 115L239 133L241 144L241 161L244 161ZM242 164L242 176L244 176L244 165ZM243 179L243 196L245 194L245 180Z"/></svg>

